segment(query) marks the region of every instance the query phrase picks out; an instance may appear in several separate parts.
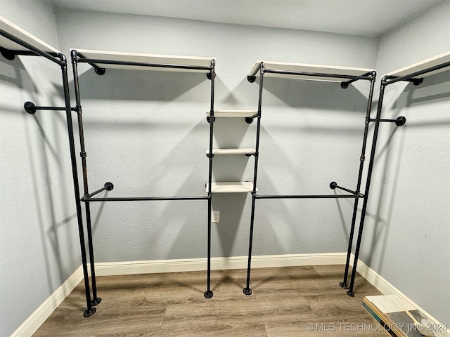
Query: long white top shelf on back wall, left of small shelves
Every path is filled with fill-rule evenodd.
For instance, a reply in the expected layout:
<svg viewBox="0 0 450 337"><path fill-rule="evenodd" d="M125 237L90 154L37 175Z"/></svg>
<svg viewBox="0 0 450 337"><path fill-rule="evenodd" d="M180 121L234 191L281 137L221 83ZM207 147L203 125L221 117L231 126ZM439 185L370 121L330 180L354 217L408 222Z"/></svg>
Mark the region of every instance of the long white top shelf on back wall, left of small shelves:
<svg viewBox="0 0 450 337"><path fill-rule="evenodd" d="M211 62L214 58L207 58L201 56L179 56L179 55L159 55L146 53L129 53L122 51L95 51L89 49L71 48L77 51L84 58L93 60L118 61L118 62L139 62L152 65L184 65L192 67L211 67ZM132 70L158 70L171 72L210 72L209 69L181 69L171 67L142 67L138 65L115 65L105 63L94 63L101 68L118 68L118 69L132 69Z"/></svg>

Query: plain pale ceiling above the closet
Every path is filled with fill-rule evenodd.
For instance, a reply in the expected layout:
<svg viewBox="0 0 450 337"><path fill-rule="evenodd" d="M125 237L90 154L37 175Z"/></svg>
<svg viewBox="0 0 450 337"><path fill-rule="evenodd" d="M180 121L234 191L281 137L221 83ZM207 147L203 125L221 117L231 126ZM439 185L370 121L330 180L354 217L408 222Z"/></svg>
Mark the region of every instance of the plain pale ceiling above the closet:
<svg viewBox="0 0 450 337"><path fill-rule="evenodd" d="M58 8L379 37L450 0L49 0Z"/></svg>

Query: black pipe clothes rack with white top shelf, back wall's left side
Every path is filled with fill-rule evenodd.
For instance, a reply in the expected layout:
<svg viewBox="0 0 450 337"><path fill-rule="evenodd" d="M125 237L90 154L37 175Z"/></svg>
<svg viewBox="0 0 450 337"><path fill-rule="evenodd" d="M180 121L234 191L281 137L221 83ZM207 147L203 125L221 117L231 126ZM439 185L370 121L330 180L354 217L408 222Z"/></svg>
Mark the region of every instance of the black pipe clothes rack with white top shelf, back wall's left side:
<svg viewBox="0 0 450 337"><path fill-rule="evenodd" d="M101 302L101 298L97 296L96 276L94 270L94 247L92 244L91 230L91 209L90 203L95 201L162 201L162 200L207 200L207 290L205 297L211 298L213 293L210 288L211 281L211 201L212 201L212 155L208 155L209 171L207 195L205 196L173 196L173 197L94 197L96 194L104 190L113 190L113 183L106 182L100 189L89 192L87 166L86 166L86 147L84 144L84 129L82 120L82 103L79 90L78 65L79 63L87 63L94 67L98 75L105 74L106 69L125 69L125 70L158 70L172 72L200 72L205 73L206 77L211 81L210 89L210 123L209 149L207 153L212 153L213 125L214 125L214 78L215 78L215 59L205 57L192 56L176 56L176 55L153 55L144 53L124 53L114 51L93 51L85 49L71 49L72 70L74 74L75 99L77 103L77 115L79 124L79 142L80 156L82 158L83 185L84 196L81 201L84 202L86 208L86 229L88 235L89 258L91 265L91 286L93 299L89 302L91 305L97 305ZM84 267L86 261L84 261ZM88 305L89 306L89 305ZM89 316L94 312L86 311L85 316Z"/></svg>

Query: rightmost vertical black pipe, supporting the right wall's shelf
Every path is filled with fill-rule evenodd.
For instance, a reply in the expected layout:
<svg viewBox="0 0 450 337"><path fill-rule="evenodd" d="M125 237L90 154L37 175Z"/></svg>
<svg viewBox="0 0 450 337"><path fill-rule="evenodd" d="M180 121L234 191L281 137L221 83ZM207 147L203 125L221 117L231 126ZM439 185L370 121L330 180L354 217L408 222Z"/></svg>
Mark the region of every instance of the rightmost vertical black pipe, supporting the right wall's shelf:
<svg viewBox="0 0 450 337"><path fill-rule="evenodd" d="M348 296L352 296L352 297L354 296L354 293L353 293L354 278L356 276L356 267L358 265L359 249L361 247L361 239L362 239L363 230L364 230L364 220L366 218L368 192L370 191L370 187L371 187L373 162L375 161L375 150L376 150L376 147L377 147L378 130L380 128L380 117L381 117L381 109L383 107L383 97L385 95L385 87L386 87L386 82L385 82L385 77L383 77L383 79L381 79L380 98L378 98L378 108L377 108L377 114L376 114L376 117L375 117L375 128L373 129L371 159L370 159L370 161L368 163L368 172L367 172L367 179L366 179L366 190L364 192L364 202L363 202L363 207L361 209L361 220L360 220L360 223L359 223L358 239L356 239L356 248L355 248L355 252L354 252L352 278L350 279L350 286L349 286L349 290L347 291L347 295Z"/></svg>

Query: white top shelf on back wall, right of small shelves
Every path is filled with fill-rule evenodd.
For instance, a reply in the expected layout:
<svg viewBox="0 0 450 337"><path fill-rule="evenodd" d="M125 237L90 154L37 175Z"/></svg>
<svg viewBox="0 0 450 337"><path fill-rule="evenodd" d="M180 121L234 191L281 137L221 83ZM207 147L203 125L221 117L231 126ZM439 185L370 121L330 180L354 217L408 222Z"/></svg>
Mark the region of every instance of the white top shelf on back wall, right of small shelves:
<svg viewBox="0 0 450 337"><path fill-rule="evenodd" d="M366 68L354 68L354 67L340 67L330 65L309 65L304 63L290 63L290 62L274 62L274 61L256 61L250 70L250 75L257 70L257 67L264 62L264 68L269 70L281 70L285 72L307 72L315 74L333 74L333 75L345 75L345 76L364 76L368 72L373 72L373 69ZM259 76L259 71L255 74ZM340 77L319 77L309 75L295 75L295 74L274 74L271 72L264 72L264 77L284 77L290 79L308 79L314 81L333 81L342 82L349 81L347 78Z"/></svg>

